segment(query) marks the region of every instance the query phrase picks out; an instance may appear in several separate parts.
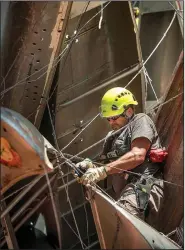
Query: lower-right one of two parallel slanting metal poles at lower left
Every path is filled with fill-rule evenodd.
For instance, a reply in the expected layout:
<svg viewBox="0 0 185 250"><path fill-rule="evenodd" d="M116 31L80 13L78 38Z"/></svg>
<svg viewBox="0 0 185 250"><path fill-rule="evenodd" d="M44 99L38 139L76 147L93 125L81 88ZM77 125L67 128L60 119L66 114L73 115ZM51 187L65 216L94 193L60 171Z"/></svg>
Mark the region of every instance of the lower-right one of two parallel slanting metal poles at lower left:
<svg viewBox="0 0 185 250"><path fill-rule="evenodd" d="M52 182L55 179L56 175L52 176L50 179L50 182ZM48 183L45 183L39 190L37 193L35 193L18 211L17 213L15 213L11 219L11 222L13 223L17 217L37 198L37 196L39 196L44 189L47 187Z"/></svg>

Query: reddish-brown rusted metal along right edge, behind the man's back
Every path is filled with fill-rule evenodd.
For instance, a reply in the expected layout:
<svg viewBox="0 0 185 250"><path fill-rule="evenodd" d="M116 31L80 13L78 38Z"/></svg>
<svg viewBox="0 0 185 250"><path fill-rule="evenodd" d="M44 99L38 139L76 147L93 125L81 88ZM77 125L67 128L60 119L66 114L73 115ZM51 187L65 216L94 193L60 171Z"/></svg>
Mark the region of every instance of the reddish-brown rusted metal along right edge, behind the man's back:
<svg viewBox="0 0 185 250"><path fill-rule="evenodd" d="M164 101L182 93L173 101L163 105L158 112L156 125L162 144L168 149L164 167L165 180L177 185L184 183L184 53L182 52L172 74ZM165 184L165 203L161 212L159 230L169 233L183 218L184 188Z"/></svg>

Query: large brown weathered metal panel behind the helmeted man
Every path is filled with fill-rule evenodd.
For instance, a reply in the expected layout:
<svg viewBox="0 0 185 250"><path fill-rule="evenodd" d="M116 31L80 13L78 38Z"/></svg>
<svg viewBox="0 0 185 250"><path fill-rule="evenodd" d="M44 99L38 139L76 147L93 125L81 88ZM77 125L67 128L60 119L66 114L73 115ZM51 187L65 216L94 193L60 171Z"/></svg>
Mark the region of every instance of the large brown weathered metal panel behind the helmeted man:
<svg viewBox="0 0 185 250"><path fill-rule="evenodd" d="M96 8L87 12L83 16L81 26L99 9ZM69 22L67 33L70 36L76 29L78 18ZM107 77L138 63L136 35L128 2L110 3L104 9L104 19L100 30L98 29L99 18L98 15L81 32L79 42L74 43L64 68L61 64L55 120L60 148L65 146L76 132L80 131L80 127L83 127L99 112L101 97L105 91L113 86L125 86L133 77L133 74L65 108L60 108L60 104L65 104L65 102L86 93L88 90L101 85L102 80ZM119 32L117 31L117 23L121 24ZM141 111L140 75L128 88L133 91L136 99L138 99L140 103L138 111ZM64 122L63 119L67 122ZM108 124L98 118L69 146L66 152L75 154L87 148L105 136L108 130ZM100 149L101 145L89 151L86 155L95 156Z"/></svg>

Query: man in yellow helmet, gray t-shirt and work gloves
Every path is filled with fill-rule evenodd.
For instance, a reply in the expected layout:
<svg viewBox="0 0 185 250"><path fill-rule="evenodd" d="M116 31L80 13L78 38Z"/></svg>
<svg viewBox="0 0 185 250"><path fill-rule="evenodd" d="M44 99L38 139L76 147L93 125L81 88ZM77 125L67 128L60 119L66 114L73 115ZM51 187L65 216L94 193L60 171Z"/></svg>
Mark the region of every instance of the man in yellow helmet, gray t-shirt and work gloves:
<svg viewBox="0 0 185 250"><path fill-rule="evenodd" d="M156 227L163 200L162 165L167 153L161 147L153 121L144 113L135 114L135 105L138 102L127 89L115 87L105 93L101 116L112 128L101 155L105 165L97 167L85 159L77 168L87 169L80 178L84 185L112 175L118 204Z"/></svg>

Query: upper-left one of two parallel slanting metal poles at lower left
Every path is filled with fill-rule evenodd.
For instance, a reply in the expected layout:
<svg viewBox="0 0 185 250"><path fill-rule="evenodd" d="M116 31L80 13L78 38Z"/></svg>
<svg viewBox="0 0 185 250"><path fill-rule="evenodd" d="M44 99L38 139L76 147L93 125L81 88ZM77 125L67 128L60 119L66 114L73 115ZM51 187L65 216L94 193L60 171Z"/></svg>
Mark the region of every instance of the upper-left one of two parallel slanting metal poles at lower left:
<svg viewBox="0 0 185 250"><path fill-rule="evenodd" d="M13 201L8 205L8 207L2 212L1 219L10 212L10 210L30 191L30 189L43 177L37 176L33 182L30 183L28 187L26 187L19 195L17 195Z"/></svg>

